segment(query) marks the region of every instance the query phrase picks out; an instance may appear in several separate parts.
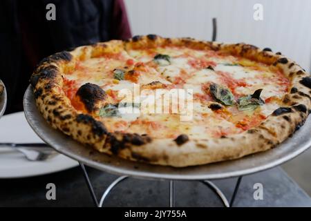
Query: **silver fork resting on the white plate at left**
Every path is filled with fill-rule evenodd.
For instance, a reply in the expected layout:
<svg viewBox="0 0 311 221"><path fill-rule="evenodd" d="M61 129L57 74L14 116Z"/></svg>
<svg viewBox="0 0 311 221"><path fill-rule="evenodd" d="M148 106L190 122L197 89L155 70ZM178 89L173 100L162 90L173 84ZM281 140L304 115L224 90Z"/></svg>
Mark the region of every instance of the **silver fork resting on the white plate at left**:
<svg viewBox="0 0 311 221"><path fill-rule="evenodd" d="M55 157L58 153L50 148L48 144L44 143L0 143L3 147L12 147L16 151L23 153L27 160L30 161L44 161Z"/></svg>

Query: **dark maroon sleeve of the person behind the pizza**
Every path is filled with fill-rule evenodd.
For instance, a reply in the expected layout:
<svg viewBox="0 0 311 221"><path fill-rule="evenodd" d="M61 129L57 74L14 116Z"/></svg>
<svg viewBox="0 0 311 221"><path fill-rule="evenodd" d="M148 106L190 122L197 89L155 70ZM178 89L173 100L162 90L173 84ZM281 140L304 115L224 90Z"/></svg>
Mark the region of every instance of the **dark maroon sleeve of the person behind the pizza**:
<svg viewBox="0 0 311 221"><path fill-rule="evenodd" d="M131 37L129 19L126 15L126 8L123 0L113 2L111 19L111 39L128 39Z"/></svg>

